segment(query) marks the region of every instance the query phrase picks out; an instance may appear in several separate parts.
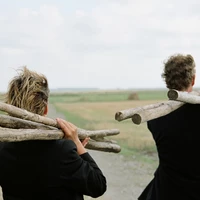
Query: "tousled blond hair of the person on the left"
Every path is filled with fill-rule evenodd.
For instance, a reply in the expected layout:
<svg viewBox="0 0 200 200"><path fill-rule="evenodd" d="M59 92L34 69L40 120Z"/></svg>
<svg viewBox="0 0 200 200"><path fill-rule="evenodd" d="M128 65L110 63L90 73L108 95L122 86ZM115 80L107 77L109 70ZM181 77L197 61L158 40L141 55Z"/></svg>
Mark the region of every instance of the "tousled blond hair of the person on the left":
<svg viewBox="0 0 200 200"><path fill-rule="evenodd" d="M18 76L9 83L5 102L44 115L49 97L47 78L43 74L27 69L26 66L19 71Z"/></svg>

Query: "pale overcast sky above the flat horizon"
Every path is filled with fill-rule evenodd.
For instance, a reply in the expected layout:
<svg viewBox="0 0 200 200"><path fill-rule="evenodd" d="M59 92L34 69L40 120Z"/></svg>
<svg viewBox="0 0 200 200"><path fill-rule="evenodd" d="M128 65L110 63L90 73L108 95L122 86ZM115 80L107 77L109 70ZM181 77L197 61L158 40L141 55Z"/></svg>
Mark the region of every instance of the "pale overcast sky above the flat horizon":
<svg viewBox="0 0 200 200"><path fill-rule="evenodd" d="M50 88L164 88L163 61L193 55L200 87L199 0L0 0L0 91L16 69Z"/></svg>

